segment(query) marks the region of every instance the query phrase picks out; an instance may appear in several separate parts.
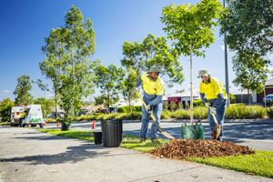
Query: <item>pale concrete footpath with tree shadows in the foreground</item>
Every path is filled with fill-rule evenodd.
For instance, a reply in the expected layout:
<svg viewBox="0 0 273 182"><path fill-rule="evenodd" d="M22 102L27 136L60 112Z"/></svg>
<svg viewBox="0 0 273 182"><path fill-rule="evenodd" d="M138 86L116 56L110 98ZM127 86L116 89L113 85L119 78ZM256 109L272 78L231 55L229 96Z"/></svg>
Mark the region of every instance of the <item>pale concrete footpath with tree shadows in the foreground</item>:
<svg viewBox="0 0 273 182"><path fill-rule="evenodd" d="M0 127L0 138L0 182L273 181L30 128Z"/></svg>

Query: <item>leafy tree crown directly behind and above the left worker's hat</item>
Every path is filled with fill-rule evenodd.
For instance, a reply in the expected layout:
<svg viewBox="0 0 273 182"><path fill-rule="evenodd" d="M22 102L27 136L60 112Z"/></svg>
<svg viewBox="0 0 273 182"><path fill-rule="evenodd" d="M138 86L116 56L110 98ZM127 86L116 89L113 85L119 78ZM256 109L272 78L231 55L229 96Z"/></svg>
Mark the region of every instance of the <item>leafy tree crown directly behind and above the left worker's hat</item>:
<svg viewBox="0 0 273 182"><path fill-rule="evenodd" d="M147 71L151 66L160 66L160 76L171 87L174 83L181 84L184 80L183 67L178 62L178 52L167 45L166 37L147 35L142 43L124 42L122 66L128 70L136 70L137 75Z"/></svg>

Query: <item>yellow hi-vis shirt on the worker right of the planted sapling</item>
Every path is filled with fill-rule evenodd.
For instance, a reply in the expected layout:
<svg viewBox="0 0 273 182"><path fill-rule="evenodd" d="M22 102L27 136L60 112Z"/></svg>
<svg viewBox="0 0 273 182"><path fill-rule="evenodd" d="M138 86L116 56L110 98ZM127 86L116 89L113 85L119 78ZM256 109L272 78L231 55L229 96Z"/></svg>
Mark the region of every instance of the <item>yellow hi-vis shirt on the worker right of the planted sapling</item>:
<svg viewBox="0 0 273 182"><path fill-rule="evenodd" d="M218 94L223 94L224 98L227 99L227 93L224 86L215 77L210 77L207 84L202 80L199 85L199 92L205 94L207 100L217 98Z"/></svg>

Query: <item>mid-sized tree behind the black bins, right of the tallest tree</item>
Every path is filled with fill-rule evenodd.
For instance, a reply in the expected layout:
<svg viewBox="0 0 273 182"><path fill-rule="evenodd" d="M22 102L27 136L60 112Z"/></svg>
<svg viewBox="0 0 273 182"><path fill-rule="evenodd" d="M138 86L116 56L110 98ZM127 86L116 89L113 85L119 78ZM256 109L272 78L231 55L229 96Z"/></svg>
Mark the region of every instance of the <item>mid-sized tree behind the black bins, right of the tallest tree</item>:
<svg viewBox="0 0 273 182"><path fill-rule="evenodd" d="M122 67L117 68L113 64L107 67L99 65L95 68L95 75L96 86L100 87L102 94L99 98L103 99L103 103L106 105L108 112L110 112L110 106L119 99L118 94L122 90L125 71Z"/></svg>

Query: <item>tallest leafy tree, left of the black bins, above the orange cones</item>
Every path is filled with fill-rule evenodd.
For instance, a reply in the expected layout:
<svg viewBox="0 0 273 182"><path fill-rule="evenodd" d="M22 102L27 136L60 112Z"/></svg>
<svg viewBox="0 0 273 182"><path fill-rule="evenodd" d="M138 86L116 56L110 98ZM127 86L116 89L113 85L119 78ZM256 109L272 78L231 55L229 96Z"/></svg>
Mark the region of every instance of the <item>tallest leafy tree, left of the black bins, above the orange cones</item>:
<svg viewBox="0 0 273 182"><path fill-rule="evenodd" d="M94 91L92 68L96 62L88 61L95 53L95 32L90 19L83 19L79 8L71 6L65 17L66 24L53 29L45 38L42 73L54 84L56 99L66 116L73 116L81 106L83 96Z"/></svg>

